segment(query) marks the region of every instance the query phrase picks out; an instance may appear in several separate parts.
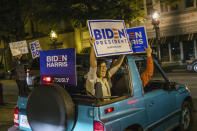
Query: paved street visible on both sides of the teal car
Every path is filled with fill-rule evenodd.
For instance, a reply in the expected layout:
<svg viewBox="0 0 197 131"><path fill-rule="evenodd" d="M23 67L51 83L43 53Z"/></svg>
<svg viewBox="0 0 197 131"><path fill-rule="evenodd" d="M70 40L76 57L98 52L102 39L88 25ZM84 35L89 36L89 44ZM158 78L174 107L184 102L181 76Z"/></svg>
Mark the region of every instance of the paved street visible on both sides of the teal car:
<svg viewBox="0 0 197 131"><path fill-rule="evenodd" d="M197 73L179 72L167 73L171 81L185 83L191 90L194 98L195 114L194 126L192 131L197 130ZM14 80L0 80L3 83L3 95L5 106L0 106L0 131L7 131L8 127L13 124L14 107L17 102L18 89Z"/></svg>

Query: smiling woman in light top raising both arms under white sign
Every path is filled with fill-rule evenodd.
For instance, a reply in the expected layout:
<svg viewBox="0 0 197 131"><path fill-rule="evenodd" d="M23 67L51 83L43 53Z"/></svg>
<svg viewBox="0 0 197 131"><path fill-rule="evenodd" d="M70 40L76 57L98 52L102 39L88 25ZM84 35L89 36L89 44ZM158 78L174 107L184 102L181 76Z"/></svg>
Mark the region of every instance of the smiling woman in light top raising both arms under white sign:
<svg viewBox="0 0 197 131"><path fill-rule="evenodd" d="M115 66L110 68L107 73L107 64L106 61L96 60L96 55L94 53L93 43L95 42L95 39L91 38L90 45L90 70L88 72L88 78L86 81L86 91L88 93L91 93L91 95L105 97L105 96L111 96L111 86L109 84L109 80L113 74L116 73L116 71L121 66L125 55L121 55L116 62ZM98 65L98 67L97 67ZM101 94L98 94L98 92L95 92L95 84L99 82L101 84L102 92Z"/></svg>

